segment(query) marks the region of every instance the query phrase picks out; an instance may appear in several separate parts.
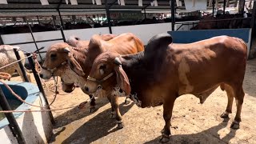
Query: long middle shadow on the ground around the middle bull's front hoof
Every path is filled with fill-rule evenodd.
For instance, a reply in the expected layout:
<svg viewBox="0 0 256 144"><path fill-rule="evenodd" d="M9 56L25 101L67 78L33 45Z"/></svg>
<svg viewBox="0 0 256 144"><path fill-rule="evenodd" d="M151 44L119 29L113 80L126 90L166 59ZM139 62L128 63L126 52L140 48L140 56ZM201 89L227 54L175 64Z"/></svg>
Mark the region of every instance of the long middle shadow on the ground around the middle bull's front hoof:
<svg viewBox="0 0 256 144"><path fill-rule="evenodd" d="M130 105L120 104L120 112L122 116L126 114L134 103ZM110 118L111 109L104 110L91 118L88 122L84 123L69 138L66 138L62 143L90 143L102 138L117 130L117 122L115 119ZM126 122L124 122L126 125Z"/></svg>

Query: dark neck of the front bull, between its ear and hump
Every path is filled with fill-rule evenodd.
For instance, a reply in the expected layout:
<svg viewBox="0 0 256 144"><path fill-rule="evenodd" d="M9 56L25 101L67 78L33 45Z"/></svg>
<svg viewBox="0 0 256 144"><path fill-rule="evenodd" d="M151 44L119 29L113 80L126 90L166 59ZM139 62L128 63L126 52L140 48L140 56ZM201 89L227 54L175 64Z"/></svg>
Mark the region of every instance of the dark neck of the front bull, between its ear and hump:
<svg viewBox="0 0 256 144"><path fill-rule="evenodd" d="M145 58L144 52L122 57L122 68L130 80L131 94L137 94L142 106L159 106L162 99L154 97L158 91L154 58Z"/></svg>

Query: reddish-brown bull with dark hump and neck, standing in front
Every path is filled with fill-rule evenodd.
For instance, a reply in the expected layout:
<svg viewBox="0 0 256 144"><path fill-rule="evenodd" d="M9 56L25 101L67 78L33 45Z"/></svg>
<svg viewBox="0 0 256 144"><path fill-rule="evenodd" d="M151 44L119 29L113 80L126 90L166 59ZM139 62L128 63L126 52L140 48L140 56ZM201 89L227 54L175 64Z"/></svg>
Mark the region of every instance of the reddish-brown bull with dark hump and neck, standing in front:
<svg viewBox="0 0 256 144"><path fill-rule="evenodd" d="M108 93L130 94L142 108L163 104L166 125L161 142L168 142L175 99L182 94L194 94L203 103L218 86L226 90L228 97L222 118L228 118L233 99L236 100L237 113L231 127L238 129L245 95L242 89L245 70L246 44L239 38L219 36L190 44L174 44L170 34L158 34L151 38L145 52L99 55L85 89L94 93L98 82L93 79L100 81L114 74L101 84Z"/></svg>

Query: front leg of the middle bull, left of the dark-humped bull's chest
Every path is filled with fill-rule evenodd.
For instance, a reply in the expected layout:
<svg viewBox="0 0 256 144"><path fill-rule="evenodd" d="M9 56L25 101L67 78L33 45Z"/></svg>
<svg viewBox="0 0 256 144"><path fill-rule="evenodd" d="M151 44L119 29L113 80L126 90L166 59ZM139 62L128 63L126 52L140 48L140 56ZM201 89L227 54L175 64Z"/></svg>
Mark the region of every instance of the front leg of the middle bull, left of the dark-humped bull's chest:
<svg viewBox="0 0 256 144"><path fill-rule="evenodd" d="M123 128L122 115L119 111L118 96L111 95L111 106L116 112L116 120L118 122L118 129Z"/></svg>

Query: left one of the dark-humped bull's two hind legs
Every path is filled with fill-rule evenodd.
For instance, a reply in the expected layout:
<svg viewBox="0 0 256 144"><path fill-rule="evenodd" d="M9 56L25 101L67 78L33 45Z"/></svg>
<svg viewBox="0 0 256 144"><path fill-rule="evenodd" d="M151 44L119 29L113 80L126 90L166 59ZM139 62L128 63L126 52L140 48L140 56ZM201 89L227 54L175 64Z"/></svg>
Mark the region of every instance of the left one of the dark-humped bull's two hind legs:
<svg viewBox="0 0 256 144"><path fill-rule="evenodd" d="M226 95L227 95L227 106L226 106L226 111L221 115L221 118L224 118L225 121L228 121L229 114L232 113L232 106L233 106L233 100L234 100L234 90L232 89L231 86L227 84L222 84L221 85L222 90L226 90Z"/></svg>

